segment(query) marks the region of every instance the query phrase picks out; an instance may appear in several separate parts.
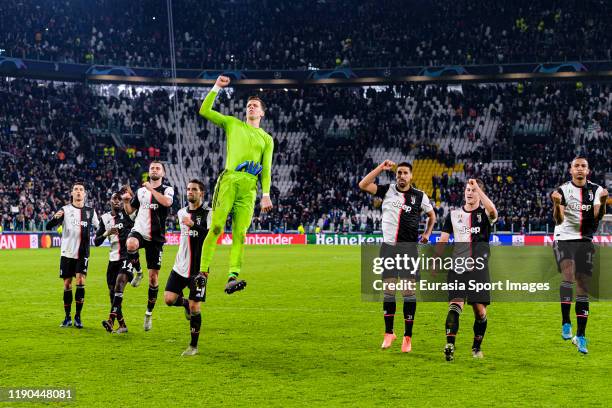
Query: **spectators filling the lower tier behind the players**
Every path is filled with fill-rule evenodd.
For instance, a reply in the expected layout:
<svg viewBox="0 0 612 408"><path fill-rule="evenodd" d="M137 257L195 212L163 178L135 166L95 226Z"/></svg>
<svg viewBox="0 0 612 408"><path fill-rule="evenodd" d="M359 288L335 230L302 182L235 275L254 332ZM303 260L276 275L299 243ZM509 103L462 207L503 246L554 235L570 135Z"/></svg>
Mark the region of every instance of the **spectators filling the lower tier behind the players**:
<svg viewBox="0 0 612 408"><path fill-rule="evenodd" d="M192 109L195 116L198 98L193 92L186 90L178 97L181 103L194 101L187 112ZM223 94L217 108L227 112L232 100L243 96ZM599 184L605 184L606 172L612 172L609 84L468 85L460 90L432 85L317 87L266 91L261 96L269 106L264 128L273 136L281 130L301 131L303 136L299 151L276 140L274 164L294 166L291 188L281 193L273 186L275 208L261 215L256 210L252 229L284 231L302 225L308 231L379 230L380 212L357 188L361 177L378 164L368 153L376 146L413 159L464 163L464 173L432 178L439 222L450 207L461 204L466 178L480 177L497 203L498 230L550 228L548 193L567 180L567 164L575 154L589 158L591 178ZM428 103L432 100L440 103ZM112 110L124 102L130 106L128 113ZM300 111L296 104L308 108ZM0 82L3 229L42 229L68 199L75 180L88 182L90 203L102 211L112 191L142 180L155 151L177 163L177 136L156 121L159 115L169 115L171 106L163 90L104 96L95 86ZM491 118L499 122L495 132L480 134L479 124ZM198 130L200 141L182 147L184 160L222 150L220 132L198 121L203 126ZM135 134L141 134L144 147L114 148L105 133L108 123L129 123ZM342 123L345 132L339 133L341 127L335 123ZM525 123L538 126L526 128ZM456 149L453 144L441 147L441 137L450 137ZM503 160L494 160L495 155ZM222 166L221 160L209 161L200 169L208 191ZM175 223L170 217L169 226Z"/></svg>

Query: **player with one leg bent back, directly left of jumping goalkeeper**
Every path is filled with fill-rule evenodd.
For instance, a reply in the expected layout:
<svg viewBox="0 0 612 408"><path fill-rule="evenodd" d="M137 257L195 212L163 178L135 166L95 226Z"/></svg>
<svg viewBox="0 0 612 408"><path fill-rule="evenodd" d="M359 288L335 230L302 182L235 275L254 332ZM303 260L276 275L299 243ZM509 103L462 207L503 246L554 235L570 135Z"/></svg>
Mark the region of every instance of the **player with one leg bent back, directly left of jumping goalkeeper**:
<svg viewBox="0 0 612 408"><path fill-rule="evenodd" d="M196 179L187 184L188 206L181 208L178 219L181 222L181 240L172 272L166 283L164 301L168 306L185 309L189 320L191 342L183 352L184 356L198 354L198 338L202 325L200 303L206 300L208 273L200 271L202 245L211 221L210 208L202 203L204 184ZM189 288L189 300L183 297L183 289Z"/></svg>

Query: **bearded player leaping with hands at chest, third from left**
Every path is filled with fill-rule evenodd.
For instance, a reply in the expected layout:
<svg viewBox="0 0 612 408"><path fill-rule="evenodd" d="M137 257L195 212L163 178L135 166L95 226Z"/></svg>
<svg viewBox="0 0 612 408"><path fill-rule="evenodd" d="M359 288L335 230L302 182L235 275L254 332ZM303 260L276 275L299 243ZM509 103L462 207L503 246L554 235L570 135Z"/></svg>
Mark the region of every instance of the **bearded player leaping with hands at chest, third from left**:
<svg viewBox="0 0 612 408"><path fill-rule="evenodd" d="M163 184L165 176L163 163L152 161L149 164L149 181L143 183L136 194L129 186L123 188L123 206L129 215L138 211L134 227L127 239L128 262L132 265L134 279L132 286L137 287L142 280L142 269L138 250L144 248L149 270L149 295L145 311L144 329L153 327L153 308L159 290L158 279L161 269L163 246L166 242L166 218L174 200L174 189Z"/></svg>

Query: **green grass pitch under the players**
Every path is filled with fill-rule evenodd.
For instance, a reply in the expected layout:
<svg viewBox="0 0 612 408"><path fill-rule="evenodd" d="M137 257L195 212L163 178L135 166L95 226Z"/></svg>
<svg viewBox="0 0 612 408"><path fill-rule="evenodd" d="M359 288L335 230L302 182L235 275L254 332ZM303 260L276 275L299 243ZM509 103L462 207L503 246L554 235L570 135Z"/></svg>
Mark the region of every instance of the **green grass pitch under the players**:
<svg viewBox="0 0 612 408"><path fill-rule="evenodd" d="M551 256L550 248L531 250ZM152 331L142 329L146 282L126 289L127 335L100 325L109 309L107 251L92 250L83 330L58 327L58 249L0 252L0 387L72 387L76 399L66 405L86 407L603 407L612 397L611 303L591 304L587 356L561 340L558 303L497 303L485 358L474 360L467 310L456 360L447 363L443 303L418 304L412 353L400 352L399 338L379 349L382 306L361 301L359 248L248 247L249 286L228 296L222 247L202 308L201 354L183 358L189 324L163 303L176 247L165 249ZM575 328L573 308L572 320ZM402 326L398 315L396 333Z"/></svg>

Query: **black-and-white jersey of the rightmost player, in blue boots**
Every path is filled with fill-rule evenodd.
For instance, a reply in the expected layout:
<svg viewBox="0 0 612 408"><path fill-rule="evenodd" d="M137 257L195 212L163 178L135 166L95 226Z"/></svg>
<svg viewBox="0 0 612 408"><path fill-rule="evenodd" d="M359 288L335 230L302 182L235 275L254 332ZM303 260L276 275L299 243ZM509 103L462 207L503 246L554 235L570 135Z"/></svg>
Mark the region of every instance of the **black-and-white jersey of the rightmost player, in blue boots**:
<svg viewBox="0 0 612 408"><path fill-rule="evenodd" d="M555 241L574 239L593 240L597 231L598 220L595 219L595 204L599 204L599 196L603 188L587 181L583 187L572 181L557 188L561 194L563 222L555 226Z"/></svg>

